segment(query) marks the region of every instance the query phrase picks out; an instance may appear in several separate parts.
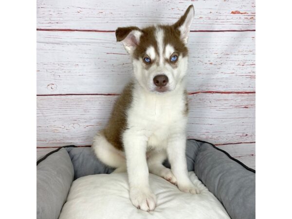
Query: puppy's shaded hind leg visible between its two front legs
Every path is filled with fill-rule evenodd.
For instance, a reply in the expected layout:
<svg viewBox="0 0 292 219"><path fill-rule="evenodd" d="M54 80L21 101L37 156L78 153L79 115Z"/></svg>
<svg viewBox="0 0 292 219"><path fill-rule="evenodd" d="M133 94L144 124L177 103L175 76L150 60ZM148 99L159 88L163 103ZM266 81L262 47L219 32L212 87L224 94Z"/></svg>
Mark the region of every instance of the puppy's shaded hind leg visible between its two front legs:
<svg viewBox="0 0 292 219"><path fill-rule="evenodd" d="M176 185L177 180L169 168L166 168L162 163L167 158L166 150L152 150L148 154L149 173L153 173Z"/></svg>

